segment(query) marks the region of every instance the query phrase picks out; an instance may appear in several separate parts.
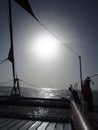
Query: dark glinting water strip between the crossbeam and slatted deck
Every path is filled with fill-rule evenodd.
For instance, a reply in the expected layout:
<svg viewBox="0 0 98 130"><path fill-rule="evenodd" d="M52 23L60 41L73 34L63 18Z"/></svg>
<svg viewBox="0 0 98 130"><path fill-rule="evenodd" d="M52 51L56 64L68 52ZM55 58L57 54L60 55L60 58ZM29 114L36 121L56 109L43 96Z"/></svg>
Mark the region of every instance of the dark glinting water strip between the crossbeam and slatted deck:
<svg viewBox="0 0 98 130"><path fill-rule="evenodd" d="M3 114L3 115L2 115ZM48 118L67 119L67 109L45 108L45 107L22 107L22 106L1 106L0 115L9 115L17 118Z"/></svg>

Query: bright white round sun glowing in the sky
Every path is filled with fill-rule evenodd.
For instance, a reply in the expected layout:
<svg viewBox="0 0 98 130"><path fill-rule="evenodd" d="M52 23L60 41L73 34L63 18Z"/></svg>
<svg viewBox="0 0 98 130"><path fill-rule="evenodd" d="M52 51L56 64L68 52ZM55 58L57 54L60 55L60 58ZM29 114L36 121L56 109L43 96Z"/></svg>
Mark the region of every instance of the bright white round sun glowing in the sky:
<svg viewBox="0 0 98 130"><path fill-rule="evenodd" d="M53 58L57 51L57 40L49 35L41 35L35 40L33 50L40 58Z"/></svg>

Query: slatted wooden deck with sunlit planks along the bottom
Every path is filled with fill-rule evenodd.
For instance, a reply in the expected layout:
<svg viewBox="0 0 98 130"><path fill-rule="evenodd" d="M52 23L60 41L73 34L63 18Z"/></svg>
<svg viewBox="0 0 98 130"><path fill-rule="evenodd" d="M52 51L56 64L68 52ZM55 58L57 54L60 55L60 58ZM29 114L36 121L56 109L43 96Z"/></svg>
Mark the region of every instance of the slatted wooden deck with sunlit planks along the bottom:
<svg viewBox="0 0 98 130"><path fill-rule="evenodd" d="M71 130L68 123L0 118L0 130Z"/></svg>

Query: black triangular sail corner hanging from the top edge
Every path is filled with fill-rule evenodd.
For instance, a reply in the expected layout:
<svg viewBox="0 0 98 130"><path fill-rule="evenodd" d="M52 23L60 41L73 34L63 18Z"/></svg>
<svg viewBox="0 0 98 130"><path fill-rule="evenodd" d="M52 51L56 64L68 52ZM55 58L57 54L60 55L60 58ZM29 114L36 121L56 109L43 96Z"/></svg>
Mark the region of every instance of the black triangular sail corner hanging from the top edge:
<svg viewBox="0 0 98 130"><path fill-rule="evenodd" d="M36 20L38 20L32 11L32 8L28 0L15 0L21 7L23 7L28 13L30 13Z"/></svg>

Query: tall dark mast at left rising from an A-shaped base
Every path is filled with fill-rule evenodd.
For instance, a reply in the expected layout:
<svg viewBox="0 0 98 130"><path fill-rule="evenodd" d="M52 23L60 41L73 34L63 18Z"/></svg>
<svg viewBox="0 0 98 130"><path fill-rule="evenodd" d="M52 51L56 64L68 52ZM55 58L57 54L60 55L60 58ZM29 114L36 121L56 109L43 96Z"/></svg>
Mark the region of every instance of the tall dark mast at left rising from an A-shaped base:
<svg viewBox="0 0 98 130"><path fill-rule="evenodd" d="M9 0L9 29L10 29L10 54L11 54L11 63L12 63L12 71L13 71L13 88L11 90L11 95L19 95L20 96L20 87L19 87L19 79L15 74L15 60L14 60L14 47L13 47L13 27L12 27L12 8L11 8L11 0Z"/></svg>

